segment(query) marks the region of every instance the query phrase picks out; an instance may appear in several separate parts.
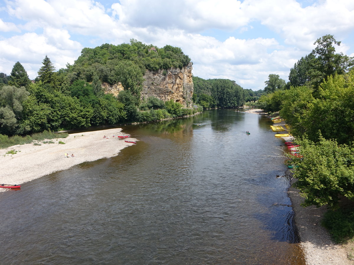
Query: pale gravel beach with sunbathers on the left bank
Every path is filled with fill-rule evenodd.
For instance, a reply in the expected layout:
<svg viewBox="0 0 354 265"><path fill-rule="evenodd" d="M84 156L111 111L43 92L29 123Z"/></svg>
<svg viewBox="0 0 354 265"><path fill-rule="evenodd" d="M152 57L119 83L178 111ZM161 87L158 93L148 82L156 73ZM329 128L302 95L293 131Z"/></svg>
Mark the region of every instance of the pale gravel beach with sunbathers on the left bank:
<svg viewBox="0 0 354 265"><path fill-rule="evenodd" d="M103 136L108 136L104 139ZM113 137L115 135L115 137ZM124 147L134 145L120 140L120 128L69 134L67 138L52 139L54 143L15 145L0 149L0 183L23 184L50 173L69 169L86 161L117 155ZM136 141L134 138L125 140ZM59 141L65 144L58 143ZM8 151L16 154L6 154ZM74 157L65 157L65 153ZM7 189L1 189L3 192Z"/></svg>

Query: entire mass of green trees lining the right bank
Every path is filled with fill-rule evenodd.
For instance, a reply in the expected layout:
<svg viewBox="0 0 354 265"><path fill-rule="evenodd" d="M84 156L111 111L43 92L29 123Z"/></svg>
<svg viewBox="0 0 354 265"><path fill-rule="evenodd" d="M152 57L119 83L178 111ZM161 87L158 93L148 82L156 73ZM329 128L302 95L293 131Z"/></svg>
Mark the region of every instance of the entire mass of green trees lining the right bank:
<svg viewBox="0 0 354 265"><path fill-rule="evenodd" d="M354 236L354 58L335 52L340 42L332 35L314 44L290 70L289 83L259 101L291 126L301 145L302 158L291 163L304 206L328 205L323 224L341 242Z"/></svg>

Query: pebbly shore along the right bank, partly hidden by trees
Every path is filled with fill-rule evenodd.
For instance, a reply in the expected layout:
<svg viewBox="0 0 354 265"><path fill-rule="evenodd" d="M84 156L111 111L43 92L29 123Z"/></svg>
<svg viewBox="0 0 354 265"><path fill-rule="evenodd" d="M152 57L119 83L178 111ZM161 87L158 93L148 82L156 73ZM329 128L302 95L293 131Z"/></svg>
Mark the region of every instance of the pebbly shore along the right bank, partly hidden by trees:
<svg viewBox="0 0 354 265"><path fill-rule="evenodd" d="M260 109L248 110L249 113L267 114ZM285 122L276 123L284 125ZM282 132L283 133L283 132ZM284 133L287 133L286 131ZM282 137L285 141L291 141L293 138ZM291 174L288 170L285 174ZM291 178L291 184L296 179ZM315 206L302 207L300 204L304 198L300 196L299 190L290 187L288 195L292 202L292 208L295 212L295 223L304 249L306 264L308 265L353 265L354 261L347 258L350 252L350 246L334 244L327 230L321 226L321 219L326 212L326 207L316 208Z"/></svg>

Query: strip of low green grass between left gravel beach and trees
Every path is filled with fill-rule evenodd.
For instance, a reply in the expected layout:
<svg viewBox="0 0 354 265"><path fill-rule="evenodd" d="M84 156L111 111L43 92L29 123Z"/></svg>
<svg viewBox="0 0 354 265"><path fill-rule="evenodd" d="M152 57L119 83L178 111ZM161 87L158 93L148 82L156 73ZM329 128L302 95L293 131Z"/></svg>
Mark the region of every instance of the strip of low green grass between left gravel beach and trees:
<svg viewBox="0 0 354 265"><path fill-rule="evenodd" d="M14 135L11 137L0 134L0 149L5 149L14 145L24 145L26 143L32 143L33 141L44 141L45 139L66 138L68 135L68 133L54 133L52 131L44 131L42 133L26 136Z"/></svg>

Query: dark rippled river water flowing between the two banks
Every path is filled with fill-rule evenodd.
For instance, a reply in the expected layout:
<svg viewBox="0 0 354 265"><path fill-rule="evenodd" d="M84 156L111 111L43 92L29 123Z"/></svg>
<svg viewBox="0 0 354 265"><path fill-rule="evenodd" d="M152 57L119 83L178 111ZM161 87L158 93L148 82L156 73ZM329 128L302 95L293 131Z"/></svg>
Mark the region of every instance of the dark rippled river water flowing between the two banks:
<svg viewBox="0 0 354 265"><path fill-rule="evenodd" d="M116 157L0 193L0 264L305 264L284 160L263 156L283 143L271 124L210 110L123 126L139 142Z"/></svg>

